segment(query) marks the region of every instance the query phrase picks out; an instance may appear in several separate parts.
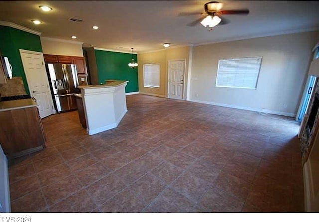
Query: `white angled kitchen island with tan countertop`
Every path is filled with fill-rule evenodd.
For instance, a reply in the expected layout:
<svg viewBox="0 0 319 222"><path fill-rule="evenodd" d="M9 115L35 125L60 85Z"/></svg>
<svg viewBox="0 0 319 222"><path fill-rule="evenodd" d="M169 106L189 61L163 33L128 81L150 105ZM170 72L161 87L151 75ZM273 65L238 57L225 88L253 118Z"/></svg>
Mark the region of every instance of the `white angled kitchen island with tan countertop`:
<svg viewBox="0 0 319 222"><path fill-rule="evenodd" d="M102 85L78 87L81 89L81 95L76 96L82 97L86 131L89 135L117 127L127 112L125 87L128 81L105 82L106 84Z"/></svg>

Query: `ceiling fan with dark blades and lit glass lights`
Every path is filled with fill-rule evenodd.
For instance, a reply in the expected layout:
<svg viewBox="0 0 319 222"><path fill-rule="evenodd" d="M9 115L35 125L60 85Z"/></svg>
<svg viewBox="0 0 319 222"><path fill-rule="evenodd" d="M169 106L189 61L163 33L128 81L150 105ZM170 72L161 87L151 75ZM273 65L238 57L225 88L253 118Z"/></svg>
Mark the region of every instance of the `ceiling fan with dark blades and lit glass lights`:
<svg viewBox="0 0 319 222"><path fill-rule="evenodd" d="M223 7L223 3L218 1L211 1L204 5L205 12L200 13L202 16L201 18L187 24L187 26L195 26L201 23L204 27L209 27L209 31L212 30L213 27L216 25L224 25L229 23L229 21L225 18L221 18L222 15L231 15L231 14L238 14L238 15L247 15L249 13L248 9L241 9L241 10L221 10ZM188 12L181 12L178 16L187 16L187 15L198 15L199 13L188 13Z"/></svg>

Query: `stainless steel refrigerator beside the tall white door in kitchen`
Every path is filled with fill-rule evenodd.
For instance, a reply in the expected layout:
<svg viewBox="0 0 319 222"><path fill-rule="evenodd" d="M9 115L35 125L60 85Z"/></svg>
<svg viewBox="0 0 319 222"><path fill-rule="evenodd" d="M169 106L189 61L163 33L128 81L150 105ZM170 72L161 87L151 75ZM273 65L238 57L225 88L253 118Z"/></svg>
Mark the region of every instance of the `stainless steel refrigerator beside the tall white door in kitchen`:
<svg viewBox="0 0 319 222"><path fill-rule="evenodd" d="M48 63L57 112L77 109L74 94L81 93L75 64Z"/></svg>

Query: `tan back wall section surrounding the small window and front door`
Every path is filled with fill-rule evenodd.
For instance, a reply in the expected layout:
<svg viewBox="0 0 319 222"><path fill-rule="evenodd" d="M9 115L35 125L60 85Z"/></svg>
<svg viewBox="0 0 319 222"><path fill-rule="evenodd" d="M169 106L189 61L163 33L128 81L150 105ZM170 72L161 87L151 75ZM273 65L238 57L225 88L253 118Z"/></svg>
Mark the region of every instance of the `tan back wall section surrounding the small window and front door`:
<svg viewBox="0 0 319 222"><path fill-rule="evenodd" d="M168 61L170 60L186 61L184 82L187 83L189 50L189 46L183 46L138 54L139 91L150 95L167 97ZM149 63L160 63L160 88L143 87L143 64ZM186 95L186 89L187 84L184 85L184 97Z"/></svg>

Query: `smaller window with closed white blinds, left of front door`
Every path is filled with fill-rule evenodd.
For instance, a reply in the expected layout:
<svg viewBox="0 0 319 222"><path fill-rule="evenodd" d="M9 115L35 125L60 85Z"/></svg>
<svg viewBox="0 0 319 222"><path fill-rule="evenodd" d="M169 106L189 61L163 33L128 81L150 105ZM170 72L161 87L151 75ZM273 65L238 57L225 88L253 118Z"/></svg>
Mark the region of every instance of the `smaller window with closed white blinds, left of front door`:
<svg viewBox="0 0 319 222"><path fill-rule="evenodd" d="M144 64L144 87L160 88L160 64Z"/></svg>

